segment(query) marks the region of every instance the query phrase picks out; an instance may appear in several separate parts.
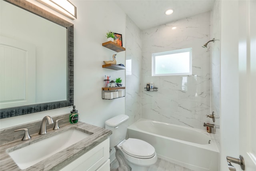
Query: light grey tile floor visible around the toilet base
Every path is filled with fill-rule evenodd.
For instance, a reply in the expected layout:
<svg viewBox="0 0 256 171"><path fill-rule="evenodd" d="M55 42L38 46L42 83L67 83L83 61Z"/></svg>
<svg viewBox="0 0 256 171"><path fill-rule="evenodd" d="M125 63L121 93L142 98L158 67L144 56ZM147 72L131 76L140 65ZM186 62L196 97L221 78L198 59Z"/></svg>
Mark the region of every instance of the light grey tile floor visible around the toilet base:
<svg viewBox="0 0 256 171"><path fill-rule="evenodd" d="M118 161L115 159L110 165L110 171L118 171ZM192 171L186 167L176 165L164 159L158 158L148 171Z"/></svg>

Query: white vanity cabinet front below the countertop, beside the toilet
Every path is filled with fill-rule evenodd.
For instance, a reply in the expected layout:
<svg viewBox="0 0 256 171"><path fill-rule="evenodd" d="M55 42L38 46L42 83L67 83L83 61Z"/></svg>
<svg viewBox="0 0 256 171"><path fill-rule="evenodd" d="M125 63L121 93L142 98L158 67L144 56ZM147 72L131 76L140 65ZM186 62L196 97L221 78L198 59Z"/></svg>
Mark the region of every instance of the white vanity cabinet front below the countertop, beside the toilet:
<svg viewBox="0 0 256 171"><path fill-rule="evenodd" d="M109 138L72 161L61 171L110 171Z"/></svg>

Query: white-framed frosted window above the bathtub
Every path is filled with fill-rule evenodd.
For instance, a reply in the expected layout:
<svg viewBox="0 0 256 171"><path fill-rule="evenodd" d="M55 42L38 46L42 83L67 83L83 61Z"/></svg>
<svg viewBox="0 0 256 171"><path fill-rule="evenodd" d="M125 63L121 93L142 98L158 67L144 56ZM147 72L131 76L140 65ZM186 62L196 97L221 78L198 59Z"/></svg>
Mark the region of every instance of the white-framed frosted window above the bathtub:
<svg viewBox="0 0 256 171"><path fill-rule="evenodd" d="M192 48L152 54L152 76L192 75Z"/></svg>

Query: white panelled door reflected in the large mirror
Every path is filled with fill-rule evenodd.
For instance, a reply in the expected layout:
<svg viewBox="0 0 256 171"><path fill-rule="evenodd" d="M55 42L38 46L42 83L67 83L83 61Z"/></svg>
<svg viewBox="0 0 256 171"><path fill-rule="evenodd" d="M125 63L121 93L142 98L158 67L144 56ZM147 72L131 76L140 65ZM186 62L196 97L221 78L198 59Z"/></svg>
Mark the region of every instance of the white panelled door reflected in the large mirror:
<svg viewBox="0 0 256 171"><path fill-rule="evenodd" d="M36 46L0 37L0 108L36 103Z"/></svg>

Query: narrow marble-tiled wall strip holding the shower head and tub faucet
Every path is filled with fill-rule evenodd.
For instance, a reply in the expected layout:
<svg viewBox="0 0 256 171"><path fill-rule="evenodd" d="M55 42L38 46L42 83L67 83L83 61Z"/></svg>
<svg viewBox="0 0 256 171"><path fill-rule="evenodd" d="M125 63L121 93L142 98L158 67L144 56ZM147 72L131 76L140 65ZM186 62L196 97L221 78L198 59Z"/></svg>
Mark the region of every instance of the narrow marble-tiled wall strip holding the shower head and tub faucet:
<svg viewBox="0 0 256 171"><path fill-rule="evenodd" d="M211 35L215 38L211 44L211 112L214 111L217 117L220 116L220 1L214 1L211 13ZM210 120L211 123L212 119ZM214 125L220 125L220 119L215 119ZM214 139L220 149L220 129L216 129Z"/></svg>

